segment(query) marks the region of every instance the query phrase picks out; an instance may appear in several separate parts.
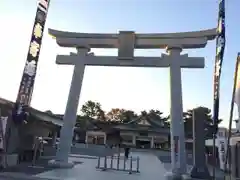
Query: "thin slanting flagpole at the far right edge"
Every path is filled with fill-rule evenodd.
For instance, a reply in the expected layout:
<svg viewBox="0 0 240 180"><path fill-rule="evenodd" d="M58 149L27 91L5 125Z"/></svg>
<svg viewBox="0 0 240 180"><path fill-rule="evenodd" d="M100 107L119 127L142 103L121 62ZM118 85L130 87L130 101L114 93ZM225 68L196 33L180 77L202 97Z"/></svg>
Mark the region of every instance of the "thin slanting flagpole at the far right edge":
<svg viewBox="0 0 240 180"><path fill-rule="evenodd" d="M230 149L230 139L232 136L232 120L233 120L233 110L234 110L234 102L235 102L235 97L236 97L236 85L237 85L237 80L238 80L238 76L240 76L240 74L238 74L239 72L239 66L240 66L240 52L237 55L237 61L236 61L236 67L235 67L235 73L234 73L234 83L233 83L233 90L232 90L232 101L231 101L231 108L230 108L230 116L229 116L229 126L228 126L228 138L227 138L227 150L226 150L226 154L225 154L225 164L224 164L224 170L227 170L227 163L228 163L228 157L229 157L229 149ZM231 163L229 163L229 169L231 167ZM225 178L225 176L224 176Z"/></svg>

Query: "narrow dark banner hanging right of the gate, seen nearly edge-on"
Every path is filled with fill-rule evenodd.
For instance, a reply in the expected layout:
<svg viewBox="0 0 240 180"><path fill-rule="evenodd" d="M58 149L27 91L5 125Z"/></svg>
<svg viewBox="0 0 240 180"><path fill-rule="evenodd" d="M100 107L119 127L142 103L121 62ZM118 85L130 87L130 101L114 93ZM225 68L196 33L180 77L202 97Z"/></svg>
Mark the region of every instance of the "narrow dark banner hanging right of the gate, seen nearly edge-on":
<svg viewBox="0 0 240 180"><path fill-rule="evenodd" d="M218 26L217 26L217 37L216 37L216 59L214 66L214 105L213 105L213 126L214 134L218 131L218 115L219 115L219 87L220 77L222 71L222 62L225 49L225 0L219 1L219 12L218 12Z"/></svg>

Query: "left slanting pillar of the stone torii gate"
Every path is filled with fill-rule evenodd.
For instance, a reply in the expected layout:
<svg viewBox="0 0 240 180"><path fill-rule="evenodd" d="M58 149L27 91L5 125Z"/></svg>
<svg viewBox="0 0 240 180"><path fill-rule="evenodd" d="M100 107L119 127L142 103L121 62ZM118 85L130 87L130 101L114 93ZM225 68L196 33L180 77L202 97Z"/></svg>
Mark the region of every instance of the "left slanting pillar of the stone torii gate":
<svg viewBox="0 0 240 180"><path fill-rule="evenodd" d="M86 55L89 49L81 48L77 51L78 54ZM60 132L60 144L57 150L56 159L49 162L51 166L59 168L72 168L74 166L74 163L69 161L68 155L71 151L73 130L77 119L77 108L82 88L85 65L81 62L72 62L72 64L74 64L74 71L63 117L64 125L62 126Z"/></svg>

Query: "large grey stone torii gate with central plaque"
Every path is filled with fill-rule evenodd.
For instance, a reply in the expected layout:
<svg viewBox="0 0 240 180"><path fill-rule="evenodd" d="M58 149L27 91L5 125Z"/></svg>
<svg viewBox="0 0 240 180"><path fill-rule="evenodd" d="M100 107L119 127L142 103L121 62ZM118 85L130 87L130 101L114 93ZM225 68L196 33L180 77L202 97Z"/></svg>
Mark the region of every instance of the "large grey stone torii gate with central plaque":
<svg viewBox="0 0 240 180"><path fill-rule="evenodd" d="M135 34L130 31L120 31L119 34L88 34L49 29L49 34L56 38L59 46L77 49L77 53L57 55L56 59L57 64L74 65L74 73L64 114L64 125L60 133L59 150L54 163L61 167L72 166L72 163L68 161L68 154L86 65L169 67L172 168L173 172L186 173L181 68L204 68L204 57L188 57L188 54L181 55L181 51L204 48L208 40L215 38L216 29L166 34ZM117 48L118 56L95 56L90 52L91 48ZM161 57L134 56L134 49L163 48L167 53L162 54ZM179 163L176 163L176 144Z"/></svg>

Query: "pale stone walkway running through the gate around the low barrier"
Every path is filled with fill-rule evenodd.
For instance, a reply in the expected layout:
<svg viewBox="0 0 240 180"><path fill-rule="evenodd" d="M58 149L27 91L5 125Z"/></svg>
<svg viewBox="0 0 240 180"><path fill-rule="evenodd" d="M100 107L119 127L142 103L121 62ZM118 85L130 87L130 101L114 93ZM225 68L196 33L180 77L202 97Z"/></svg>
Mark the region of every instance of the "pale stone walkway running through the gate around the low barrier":
<svg viewBox="0 0 240 180"><path fill-rule="evenodd" d="M89 158L78 158L82 164L76 165L72 169L54 169L36 175L41 178L61 179L61 180L95 180L95 179L115 179L115 180L159 180L164 179L166 170L158 158L151 153L132 153L132 156L140 158L140 173L128 174L119 171L101 171L96 169L97 160ZM70 160L76 160L70 157Z"/></svg>

